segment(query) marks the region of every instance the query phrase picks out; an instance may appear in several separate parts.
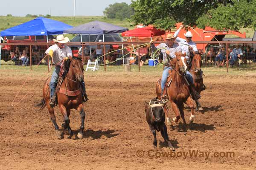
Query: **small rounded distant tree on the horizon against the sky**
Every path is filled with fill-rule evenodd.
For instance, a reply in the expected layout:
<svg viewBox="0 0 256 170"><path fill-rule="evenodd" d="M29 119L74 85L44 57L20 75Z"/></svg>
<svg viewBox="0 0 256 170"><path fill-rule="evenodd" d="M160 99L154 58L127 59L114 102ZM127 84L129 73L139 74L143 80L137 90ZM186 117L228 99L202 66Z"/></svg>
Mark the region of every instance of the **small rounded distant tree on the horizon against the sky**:
<svg viewBox="0 0 256 170"><path fill-rule="evenodd" d="M131 15L134 14L134 11L127 3L114 3L105 8L103 14L108 18L123 20L125 18L130 18Z"/></svg>

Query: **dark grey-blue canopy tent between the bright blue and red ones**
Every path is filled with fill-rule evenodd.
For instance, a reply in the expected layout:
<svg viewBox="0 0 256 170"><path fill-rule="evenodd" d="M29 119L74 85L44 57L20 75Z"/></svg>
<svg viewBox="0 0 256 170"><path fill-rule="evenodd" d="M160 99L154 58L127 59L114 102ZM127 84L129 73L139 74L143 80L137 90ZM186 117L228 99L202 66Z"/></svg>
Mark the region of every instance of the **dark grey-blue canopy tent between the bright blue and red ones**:
<svg viewBox="0 0 256 170"><path fill-rule="evenodd" d="M111 33L122 33L124 31L127 31L128 28L115 26L110 23L105 23L101 21L92 21L90 23L85 23L80 26L76 26L67 30L64 30L64 33L69 34L102 34L103 35L103 42L104 41L104 34L111 34ZM89 36L90 41L90 36ZM81 42L82 42L82 36L81 36ZM90 49L91 51L91 49Z"/></svg>

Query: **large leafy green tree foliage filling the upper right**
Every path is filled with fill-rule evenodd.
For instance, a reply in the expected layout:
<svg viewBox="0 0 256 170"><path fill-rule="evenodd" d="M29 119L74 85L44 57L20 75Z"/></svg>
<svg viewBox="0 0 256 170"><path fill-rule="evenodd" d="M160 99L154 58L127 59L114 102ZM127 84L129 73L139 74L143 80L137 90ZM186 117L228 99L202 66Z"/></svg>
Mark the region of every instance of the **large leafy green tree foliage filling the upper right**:
<svg viewBox="0 0 256 170"><path fill-rule="evenodd" d="M256 0L136 0L135 24L170 29L182 22L199 28L256 29Z"/></svg>

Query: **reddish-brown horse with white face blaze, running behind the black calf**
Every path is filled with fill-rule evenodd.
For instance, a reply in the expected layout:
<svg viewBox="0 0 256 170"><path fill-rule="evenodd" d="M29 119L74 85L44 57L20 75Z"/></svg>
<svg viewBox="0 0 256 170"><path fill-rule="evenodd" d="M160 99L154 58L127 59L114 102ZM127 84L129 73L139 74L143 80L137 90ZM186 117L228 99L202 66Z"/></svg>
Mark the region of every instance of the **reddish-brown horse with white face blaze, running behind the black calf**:
<svg viewBox="0 0 256 170"><path fill-rule="evenodd" d="M173 118L173 121L178 122L180 117L183 119L184 124L186 125L186 121L184 118L184 105L183 103L187 103L188 98L190 96L189 92L189 85L187 80L184 78L184 74L186 72L187 66L186 66L186 53L181 54L181 52L175 53L176 58L172 59L170 64L172 65L172 68L174 68L172 71L169 71L170 76L167 79L167 82L170 82L172 79L172 82L169 86L166 86L163 93L165 94L165 91L167 92L168 99L171 103L172 110L175 112L176 117ZM161 99L161 85L160 83L156 84L156 94L157 98ZM192 101L188 104L191 104ZM189 107L192 107L192 105L189 105ZM165 108L165 113L167 115L167 109ZM169 119L167 119L167 122L169 122ZM187 125L186 125L187 129Z"/></svg>

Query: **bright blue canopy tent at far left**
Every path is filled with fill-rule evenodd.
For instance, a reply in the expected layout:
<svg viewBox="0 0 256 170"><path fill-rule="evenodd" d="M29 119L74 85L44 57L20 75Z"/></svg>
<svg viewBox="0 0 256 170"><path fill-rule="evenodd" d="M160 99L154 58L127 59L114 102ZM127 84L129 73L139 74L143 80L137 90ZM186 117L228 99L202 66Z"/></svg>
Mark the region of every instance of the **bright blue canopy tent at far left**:
<svg viewBox="0 0 256 170"><path fill-rule="evenodd" d="M72 27L73 26L67 25L60 21L55 21L44 17L37 17L34 20L1 31L0 36L46 35L48 42L48 35L63 34L63 31L65 29L69 29Z"/></svg>

